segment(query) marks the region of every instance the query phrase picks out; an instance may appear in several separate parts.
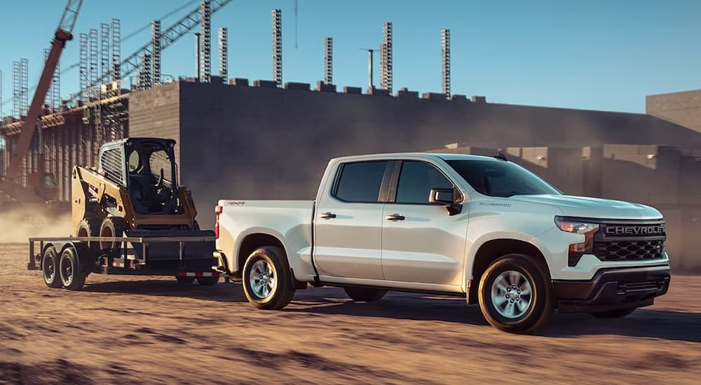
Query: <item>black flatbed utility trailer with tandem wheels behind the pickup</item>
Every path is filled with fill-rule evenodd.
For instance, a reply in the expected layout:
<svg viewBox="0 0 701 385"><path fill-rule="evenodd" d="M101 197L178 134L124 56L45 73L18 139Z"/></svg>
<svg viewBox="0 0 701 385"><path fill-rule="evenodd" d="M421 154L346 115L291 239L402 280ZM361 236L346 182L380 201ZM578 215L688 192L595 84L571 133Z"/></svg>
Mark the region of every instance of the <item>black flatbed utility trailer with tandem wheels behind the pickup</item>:
<svg viewBox="0 0 701 385"><path fill-rule="evenodd" d="M151 231L142 237L29 238L27 269L41 270L46 286L69 290L83 288L91 273L175 276L179 283L197 280L212 286L221 274L212 268L216 265L214 249L211 231L179 232L177 236Z"/></svg>

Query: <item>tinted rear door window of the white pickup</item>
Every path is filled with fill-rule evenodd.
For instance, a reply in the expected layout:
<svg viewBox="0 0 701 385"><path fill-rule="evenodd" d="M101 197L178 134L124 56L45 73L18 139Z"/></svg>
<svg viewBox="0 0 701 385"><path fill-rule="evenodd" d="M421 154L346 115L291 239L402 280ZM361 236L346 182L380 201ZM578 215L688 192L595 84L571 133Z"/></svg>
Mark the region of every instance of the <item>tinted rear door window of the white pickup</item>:
<svg viewBox="0 0 701 385"><path fill-rule="evenodd" d="M386 160L342 165L336 184L336 198L346 202L379 202L386 167Z"/></svg>

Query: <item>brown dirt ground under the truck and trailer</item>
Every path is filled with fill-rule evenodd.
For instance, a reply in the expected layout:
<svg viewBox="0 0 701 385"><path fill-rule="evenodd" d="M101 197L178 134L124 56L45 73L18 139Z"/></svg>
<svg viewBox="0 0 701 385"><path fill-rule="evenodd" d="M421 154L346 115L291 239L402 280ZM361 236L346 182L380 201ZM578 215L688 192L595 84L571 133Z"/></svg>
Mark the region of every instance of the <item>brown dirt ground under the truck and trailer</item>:
<svg viewBox="0 0 701 385"><path fill-rule="evenodd" d="M47 288L28 247L0 245L0 384L697 383L701 276L676 275L653 307L618 320L555 314L538 335L486 324L459 298L390 293L353 303L297 291L283 311L241 286L88 277Z"/></svg>

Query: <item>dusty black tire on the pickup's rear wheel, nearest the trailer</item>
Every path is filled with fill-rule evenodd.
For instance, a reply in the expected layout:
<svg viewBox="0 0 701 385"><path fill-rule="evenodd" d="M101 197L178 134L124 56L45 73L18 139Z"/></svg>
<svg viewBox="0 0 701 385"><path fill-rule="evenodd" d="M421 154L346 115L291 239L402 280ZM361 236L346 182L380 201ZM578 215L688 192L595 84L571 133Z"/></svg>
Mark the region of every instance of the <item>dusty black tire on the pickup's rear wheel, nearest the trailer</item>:
<svg viewBox="0 0 701 385"><path fill-rule="evenodd" d="M267 277L265 273L269 273ZM282 248L257 248L243 265L243 291L248 302L258 309L273 310L287 306L294 296L291 275L290 265ZM267 281L271 284L266 284Z"/></svg>

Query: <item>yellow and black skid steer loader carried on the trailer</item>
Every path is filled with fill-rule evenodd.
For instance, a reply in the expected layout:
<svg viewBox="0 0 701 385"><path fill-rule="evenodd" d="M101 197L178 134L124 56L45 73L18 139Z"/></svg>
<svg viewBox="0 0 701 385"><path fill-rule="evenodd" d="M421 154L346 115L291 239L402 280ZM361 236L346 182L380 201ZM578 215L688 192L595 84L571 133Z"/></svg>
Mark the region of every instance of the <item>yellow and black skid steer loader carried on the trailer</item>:
<svg viewBox="0 0 701 385"><path fill-rule="evenodd" d="M213 239L214 235L200 230L191 192L178 185L174 148L172 139L121 139L100 148L97 168L74 167L73 228L76 237L100 237L100 241L88 243L93 253L131 253L135 256L125 258L146 260L144 269L212 266L213 240L163 242L168 237ZM123 237L160 241L149 243L148 251L144 246L125 252ZM184 283L194 280L190 276L177 278ZM207 279L215 278L198 276L200 283L208 284Z"/></svg>

